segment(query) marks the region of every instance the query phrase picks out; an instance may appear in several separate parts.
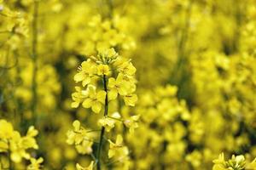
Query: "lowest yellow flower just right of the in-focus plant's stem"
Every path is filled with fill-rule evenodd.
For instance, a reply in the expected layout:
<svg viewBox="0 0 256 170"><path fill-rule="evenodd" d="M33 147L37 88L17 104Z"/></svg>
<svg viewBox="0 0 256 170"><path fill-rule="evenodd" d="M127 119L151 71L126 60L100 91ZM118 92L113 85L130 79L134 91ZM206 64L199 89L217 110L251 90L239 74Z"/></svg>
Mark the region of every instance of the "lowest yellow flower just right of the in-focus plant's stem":
<svg viewBox="0 0 256 170"><path fill-rule="evenodd" d="M123 145L123 138L120 134L117 135L116 142L113 143L110 139L109 142L109 150L108 150L108 157L112 158L113 156L116 157L125 157L129 154L128 148Z"/></svg>

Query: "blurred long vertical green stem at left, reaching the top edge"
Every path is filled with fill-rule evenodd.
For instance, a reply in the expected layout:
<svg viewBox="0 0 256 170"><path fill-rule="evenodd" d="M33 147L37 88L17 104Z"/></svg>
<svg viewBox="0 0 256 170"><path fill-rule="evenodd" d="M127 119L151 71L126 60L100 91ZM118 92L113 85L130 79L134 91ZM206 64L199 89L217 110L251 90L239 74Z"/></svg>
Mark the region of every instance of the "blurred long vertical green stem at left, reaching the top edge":
<svg viewBox="0 0 256 170"><path fill-rule="evenodd" d="M37 72L38 72L38 0L34 0L33 21L32 21L32 122L37 122Z"/></svg>

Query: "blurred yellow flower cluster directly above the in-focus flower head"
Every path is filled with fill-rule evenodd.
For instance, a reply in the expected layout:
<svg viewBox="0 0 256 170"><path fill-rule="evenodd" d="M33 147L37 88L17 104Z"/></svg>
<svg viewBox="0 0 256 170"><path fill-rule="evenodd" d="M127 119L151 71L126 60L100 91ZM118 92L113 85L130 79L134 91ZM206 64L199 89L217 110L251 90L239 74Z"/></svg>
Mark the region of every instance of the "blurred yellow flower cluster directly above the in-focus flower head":
<svg viewBox="0 0 256 170"><path fill-rule="evenodd" d="M96 54L98 50L108 48L120 48L129 50L135 48L136 44L125 34L125 23L122 17L116 15L112 20L102 19L96 14L88 21L88 28L85 30L87 41L79 45L79 52L85 55Z"/></svg>

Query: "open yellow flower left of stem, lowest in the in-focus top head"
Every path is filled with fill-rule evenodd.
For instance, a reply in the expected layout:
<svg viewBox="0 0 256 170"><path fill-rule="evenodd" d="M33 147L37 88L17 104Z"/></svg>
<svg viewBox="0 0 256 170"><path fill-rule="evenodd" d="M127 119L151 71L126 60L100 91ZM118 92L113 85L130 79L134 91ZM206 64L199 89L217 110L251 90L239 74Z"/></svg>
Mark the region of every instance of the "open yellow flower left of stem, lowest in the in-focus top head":
<svg viewBox="0 0 256 170"><path fill-rule="evenodd" d="M102 110L102 105L105 103L106 92L100 90L96 92L96 88L93 86L88 87L88 98L84 99L84 108L90 108L95 113L99 113Z"/></svg>

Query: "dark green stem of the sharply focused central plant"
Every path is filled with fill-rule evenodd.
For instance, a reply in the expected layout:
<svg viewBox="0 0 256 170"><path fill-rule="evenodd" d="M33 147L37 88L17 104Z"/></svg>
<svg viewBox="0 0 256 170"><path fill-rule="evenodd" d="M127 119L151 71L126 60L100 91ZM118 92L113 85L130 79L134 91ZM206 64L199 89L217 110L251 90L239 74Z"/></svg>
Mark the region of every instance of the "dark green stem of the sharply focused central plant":
<svg viewBox="0 0 256 170"><path fill-rule="evenodd" d="M104 90L106 92L104 116L108 116L108 88L107 88L106 75L103 76L103 84L104 84ZM101 152L102 152L102 146L103 146L104 133L105 133L105 127L102 127L101 135L100 135L100 142L98 144L97 153L96 153L97 170L101 170Z"/></svg>

